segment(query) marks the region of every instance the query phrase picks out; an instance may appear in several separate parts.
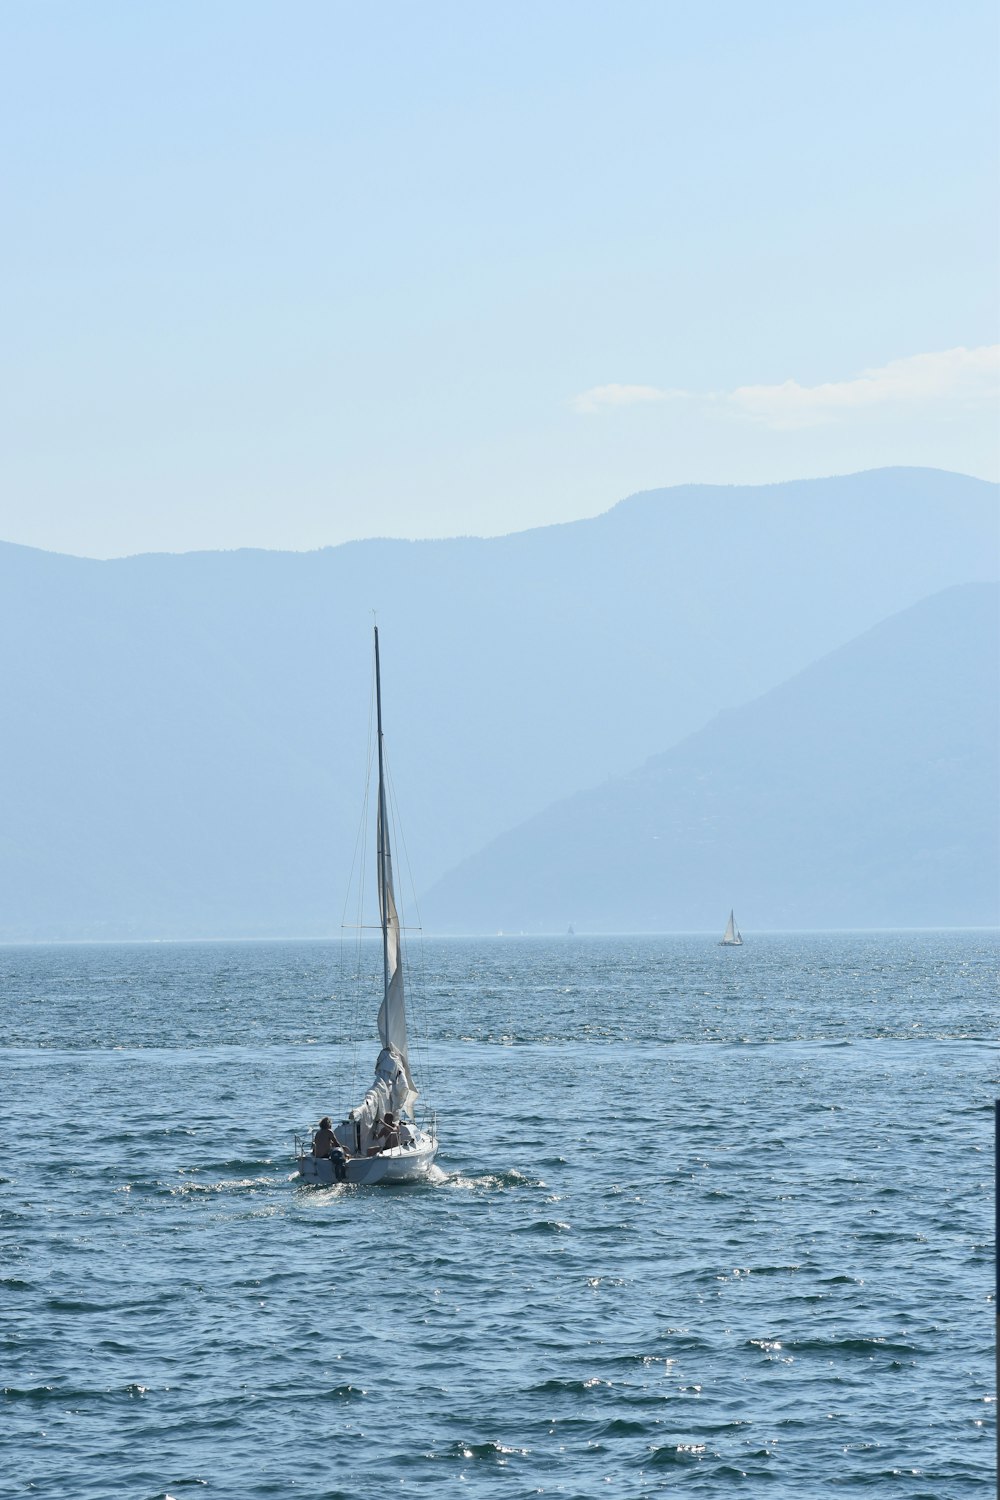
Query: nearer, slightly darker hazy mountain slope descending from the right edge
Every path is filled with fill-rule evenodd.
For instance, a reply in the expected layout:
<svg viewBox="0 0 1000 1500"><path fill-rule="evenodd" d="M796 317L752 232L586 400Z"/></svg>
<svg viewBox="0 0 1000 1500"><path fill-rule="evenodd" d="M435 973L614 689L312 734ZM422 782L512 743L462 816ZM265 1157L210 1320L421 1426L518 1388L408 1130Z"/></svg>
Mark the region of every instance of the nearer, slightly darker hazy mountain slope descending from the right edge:
<svg viewBox="0 0 1000 1500"><path fill-rule="evenodd" d="M442 930L1000 922L1000 591L894 615L466 860Z"/></svg>

